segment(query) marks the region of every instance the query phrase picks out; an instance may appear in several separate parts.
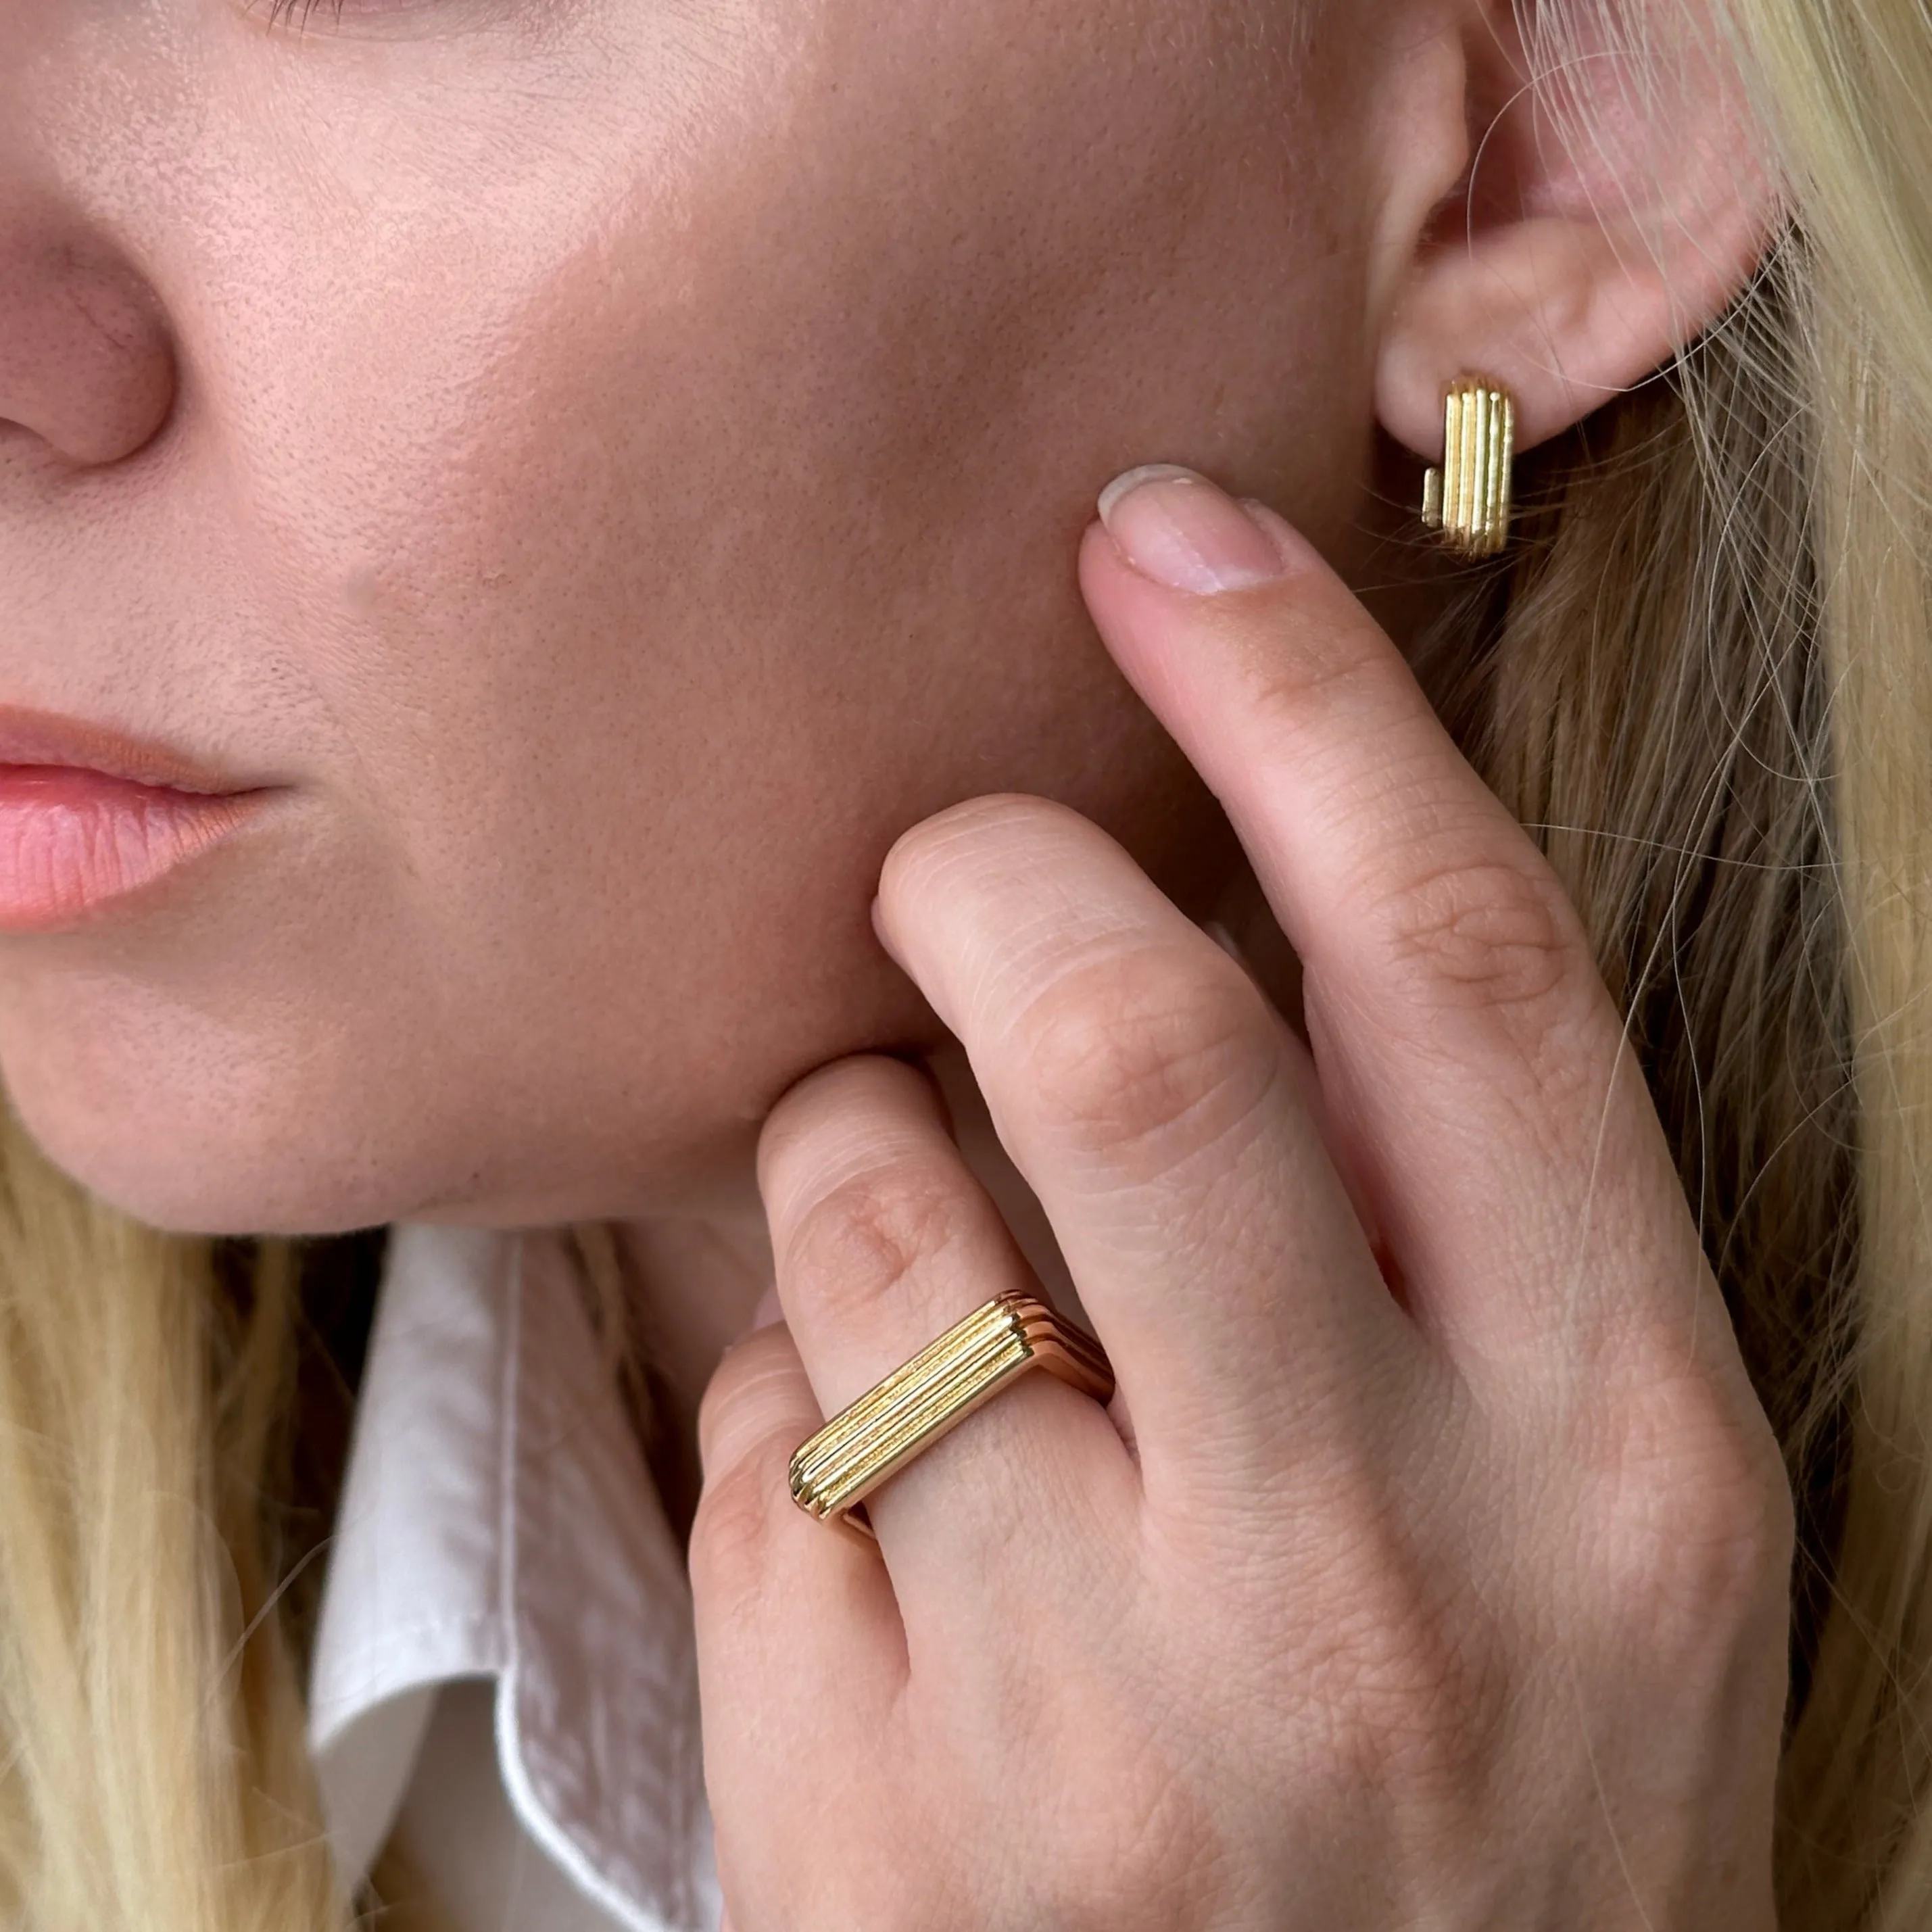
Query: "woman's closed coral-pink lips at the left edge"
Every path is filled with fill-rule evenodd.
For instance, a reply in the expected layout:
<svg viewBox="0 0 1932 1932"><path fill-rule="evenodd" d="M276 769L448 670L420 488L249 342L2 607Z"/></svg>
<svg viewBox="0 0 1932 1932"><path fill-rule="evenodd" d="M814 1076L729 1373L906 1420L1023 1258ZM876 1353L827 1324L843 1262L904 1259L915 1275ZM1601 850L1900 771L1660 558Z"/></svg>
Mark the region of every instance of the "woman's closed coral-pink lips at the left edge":
<svg viewBox="0 0 1932 1932"><path fill-rule="evenodd" d="M166 877L265 798L166 746L0 705L0 933L44 933Z"/></svg>

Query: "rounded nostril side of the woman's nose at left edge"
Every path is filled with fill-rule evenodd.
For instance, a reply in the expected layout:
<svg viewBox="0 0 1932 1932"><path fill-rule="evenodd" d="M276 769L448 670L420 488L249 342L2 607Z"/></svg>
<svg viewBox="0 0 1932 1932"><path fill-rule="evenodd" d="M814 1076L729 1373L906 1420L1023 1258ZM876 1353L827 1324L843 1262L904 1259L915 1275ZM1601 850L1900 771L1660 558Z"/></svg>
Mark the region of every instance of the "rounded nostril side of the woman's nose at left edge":
<svg viewBox="0 0 1932 1932"><path fill-rule="evenodd" d="M147 278L0 172L0 448L25 431L73 466L120 462L160 431L176 383Z"/></svg>

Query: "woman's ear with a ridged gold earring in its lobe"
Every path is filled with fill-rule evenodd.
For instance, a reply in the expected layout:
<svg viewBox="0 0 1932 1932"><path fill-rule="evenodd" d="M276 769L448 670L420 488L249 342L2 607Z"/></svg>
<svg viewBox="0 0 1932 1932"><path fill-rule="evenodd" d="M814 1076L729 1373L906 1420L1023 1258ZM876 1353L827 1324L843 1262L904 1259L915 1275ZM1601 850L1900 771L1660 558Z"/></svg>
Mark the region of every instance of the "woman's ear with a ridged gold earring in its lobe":
<svg viewBox="0 0 1932 1932"><path fill-rule="evenodd" d="M1694 340L1776 230L1743 87L1694 10L1611 4L1565 6L1561 52L1526 10L1532 58L1507 0L1441 0L1397 75L1376 408L1428 462L1455 377L1505 384L1519 446L1542 442Z"/></svg>

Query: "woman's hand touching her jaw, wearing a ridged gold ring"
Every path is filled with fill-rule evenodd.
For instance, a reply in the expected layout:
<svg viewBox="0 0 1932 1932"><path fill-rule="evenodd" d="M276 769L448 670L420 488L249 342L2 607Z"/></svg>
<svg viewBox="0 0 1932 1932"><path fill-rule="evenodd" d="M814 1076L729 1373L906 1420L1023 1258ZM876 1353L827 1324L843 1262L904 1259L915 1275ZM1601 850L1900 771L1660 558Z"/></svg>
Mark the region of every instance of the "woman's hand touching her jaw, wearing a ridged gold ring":
<svg viewBox="0 0 1932 1932"><path fill-rule="evenodd" d="M707 1395L692 1540L728 1920L1768 1932L1791 1501L1578 920L1279 518L1169 477L1109 524L1088 605L1312 1053L1070 811L895 848L879 929L1119 1395L1024 1378L875 1549L798 1511L821 1416L1028 1273L920 1074L786 1095L786 1320Z"/></svg>

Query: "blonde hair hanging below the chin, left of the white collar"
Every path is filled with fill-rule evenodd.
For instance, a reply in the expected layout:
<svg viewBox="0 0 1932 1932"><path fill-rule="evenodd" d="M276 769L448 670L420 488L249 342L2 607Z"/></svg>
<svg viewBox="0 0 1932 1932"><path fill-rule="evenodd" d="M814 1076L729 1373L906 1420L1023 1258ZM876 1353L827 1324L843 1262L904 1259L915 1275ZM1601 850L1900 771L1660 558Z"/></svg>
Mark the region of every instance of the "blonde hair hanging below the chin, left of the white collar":
<svg viewBox="0 0 1932 1932"><path fill-rule="evenodd" d="M340 1926L272 1615L286 1248L0 1167L0 1909L33 1932Z"/></svg>

